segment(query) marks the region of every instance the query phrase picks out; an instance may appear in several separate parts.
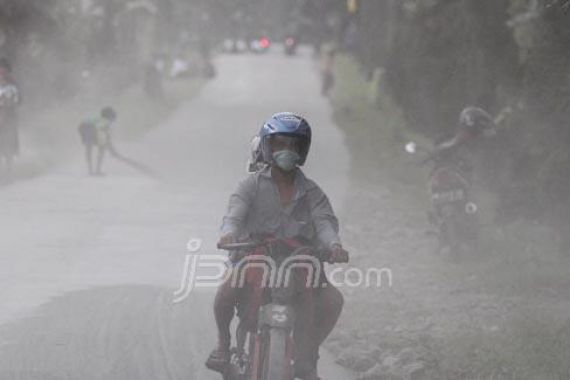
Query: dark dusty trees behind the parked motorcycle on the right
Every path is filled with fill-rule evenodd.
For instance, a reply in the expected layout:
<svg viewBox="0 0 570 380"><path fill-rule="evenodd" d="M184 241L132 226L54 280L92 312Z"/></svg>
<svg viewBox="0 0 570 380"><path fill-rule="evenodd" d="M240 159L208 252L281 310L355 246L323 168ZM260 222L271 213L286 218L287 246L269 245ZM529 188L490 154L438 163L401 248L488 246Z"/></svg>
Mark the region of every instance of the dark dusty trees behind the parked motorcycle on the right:
<svg viewBox="0 0 570 380"><path fill-rule="evenodd" d="M361 0L358 25L360 61L386 69L411 128L437 140L466 104L502 112L485 155L499 214L567 230L570 1Z"/></svg>

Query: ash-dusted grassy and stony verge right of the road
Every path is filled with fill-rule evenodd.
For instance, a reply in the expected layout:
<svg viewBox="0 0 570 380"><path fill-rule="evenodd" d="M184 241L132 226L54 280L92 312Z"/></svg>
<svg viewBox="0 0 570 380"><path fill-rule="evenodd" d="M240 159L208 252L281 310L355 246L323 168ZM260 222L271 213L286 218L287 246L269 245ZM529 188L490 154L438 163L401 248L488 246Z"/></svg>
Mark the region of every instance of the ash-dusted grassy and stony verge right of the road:
<svg viewBox="0 0 570 380"><path fill-rule="evenodd" d="M567 378L570 263L555 235L528 220L497 225L496 197L482 189L480 252L461 262L437 254L425 233L428 171L403 149L431 142L377 80L339 57L332 103L352 152L352 264L390 268L394 286L344 289L346 318L328 348L367 380Z"/></svg>

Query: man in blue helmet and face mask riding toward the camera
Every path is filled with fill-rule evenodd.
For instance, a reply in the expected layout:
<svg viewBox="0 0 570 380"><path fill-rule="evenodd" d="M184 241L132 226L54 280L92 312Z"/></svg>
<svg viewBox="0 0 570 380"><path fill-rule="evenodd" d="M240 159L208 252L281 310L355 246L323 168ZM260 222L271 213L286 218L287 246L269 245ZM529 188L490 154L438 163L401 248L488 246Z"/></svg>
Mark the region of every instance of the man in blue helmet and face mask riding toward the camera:
<svg viewBox="0 0 570 380"><path fill-rule="evenodd" d="M329 249L331 262L347 262L348 252L342 248L338 220L327 196L299 169L311 145L308 122L293 113L278 113L264 123L259 138L260 158L266 166L241 181L231 195L219 244L269 234L309 241ZM230 323L239 301L240 289L232 287L227 278L214 301L218 345L206 362L218 372L224 371L230 358ZM296 348L295 375L303 380L319 379L318 349L333 330L343 305L340 291L328 283L315 290L314 299L315 331L299 334L314 339L303 339Z"/></svg>

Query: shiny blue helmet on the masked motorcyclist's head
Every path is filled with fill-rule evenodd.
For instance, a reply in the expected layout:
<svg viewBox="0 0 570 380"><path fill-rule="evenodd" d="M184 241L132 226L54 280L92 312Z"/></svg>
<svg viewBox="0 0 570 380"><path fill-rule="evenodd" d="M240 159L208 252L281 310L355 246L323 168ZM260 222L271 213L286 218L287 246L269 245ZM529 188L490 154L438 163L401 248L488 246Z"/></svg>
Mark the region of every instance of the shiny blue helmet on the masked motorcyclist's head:
<svg viewBox="0 0 570 380"><path fill-rule="evenodd" d="M298 137L300 141L299 155L303 165L311 148L311 126L299 115L292 112L280 112L271 116L267 120L261 131L259 131L261 157L263 161L270 164L273 162L273 152L271 150L271 137L275 135L286 135Z"/></svg>

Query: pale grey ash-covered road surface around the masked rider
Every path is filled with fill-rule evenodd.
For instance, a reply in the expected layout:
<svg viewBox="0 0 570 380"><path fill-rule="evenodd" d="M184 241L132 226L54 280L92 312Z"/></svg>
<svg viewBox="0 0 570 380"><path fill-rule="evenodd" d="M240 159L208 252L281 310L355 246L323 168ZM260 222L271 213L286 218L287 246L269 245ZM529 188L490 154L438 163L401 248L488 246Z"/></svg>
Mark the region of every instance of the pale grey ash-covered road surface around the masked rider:
<svg viewBox="0 0 570 380"><path fill-rule="evenodd" d="M274 112L313 125L305 172L341 211L348 152L309 54L226 56L217 65L196 99L123 147L160 179L112 159L106 178L87 177L83 157L72 155L0 190L0 379L218 378L203 366L215 342L214 290L179 304L173 291L190 238L217 253L249 140ZM327 379L351 378L321 364Z"/></svg>

